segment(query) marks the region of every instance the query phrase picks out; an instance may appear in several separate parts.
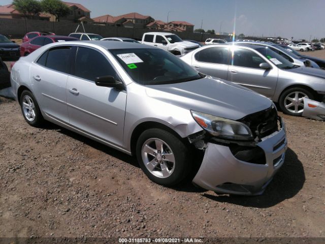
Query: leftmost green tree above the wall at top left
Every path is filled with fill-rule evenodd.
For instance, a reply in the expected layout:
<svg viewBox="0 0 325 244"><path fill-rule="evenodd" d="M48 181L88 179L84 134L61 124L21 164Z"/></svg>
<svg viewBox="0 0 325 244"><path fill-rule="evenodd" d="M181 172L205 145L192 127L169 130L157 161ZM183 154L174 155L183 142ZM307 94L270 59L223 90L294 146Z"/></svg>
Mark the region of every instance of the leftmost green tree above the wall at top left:
<svg viewBox="0 0 325 244"><path fill-rule="evenodd" d="M14 0L14 9L22 13L26 18L35 18L42 12L42 6L36 0Z"/></svg>

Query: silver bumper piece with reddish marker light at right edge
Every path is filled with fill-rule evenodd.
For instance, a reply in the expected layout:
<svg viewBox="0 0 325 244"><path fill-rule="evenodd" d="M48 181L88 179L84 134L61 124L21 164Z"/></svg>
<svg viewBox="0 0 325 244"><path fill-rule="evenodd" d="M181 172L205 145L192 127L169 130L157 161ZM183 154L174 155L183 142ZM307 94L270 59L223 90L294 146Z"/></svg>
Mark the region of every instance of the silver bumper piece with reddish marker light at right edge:
<svg viewBox="0 0 325 244"><path fill-rule="evenodd" d="M325 102L317 102L304 98L303 116L325 121Z"/></svg>

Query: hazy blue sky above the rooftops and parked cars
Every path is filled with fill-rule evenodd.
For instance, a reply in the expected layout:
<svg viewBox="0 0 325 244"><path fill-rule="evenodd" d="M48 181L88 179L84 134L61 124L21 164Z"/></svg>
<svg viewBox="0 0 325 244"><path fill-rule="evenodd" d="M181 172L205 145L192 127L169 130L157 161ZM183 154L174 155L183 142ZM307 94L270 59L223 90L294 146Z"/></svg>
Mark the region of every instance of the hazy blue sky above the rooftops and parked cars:
<svg viewBox="0 0 325 244"><path fill-rule="evenodd" d="M68 2L68 1L67 1ZM325 37L325 0L69 0L91 10L91 17L129 12L167 21L185 20L200 28L236 34L313 39ZM0 5L11 0L0 0Z"/></svg>

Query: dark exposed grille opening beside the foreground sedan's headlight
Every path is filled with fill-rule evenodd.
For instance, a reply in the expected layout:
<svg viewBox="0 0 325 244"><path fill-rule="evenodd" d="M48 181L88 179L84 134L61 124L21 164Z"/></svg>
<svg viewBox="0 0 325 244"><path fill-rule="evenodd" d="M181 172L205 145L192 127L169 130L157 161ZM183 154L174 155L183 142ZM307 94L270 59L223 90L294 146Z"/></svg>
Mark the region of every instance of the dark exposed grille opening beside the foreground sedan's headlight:
<svg viewBox="0 0 325 244"><path fill-rule="evenodd" d="M249 127L254 138L263 138L278 131L278 113L273 105L266 110L249 114L238 121Z"/></svg>

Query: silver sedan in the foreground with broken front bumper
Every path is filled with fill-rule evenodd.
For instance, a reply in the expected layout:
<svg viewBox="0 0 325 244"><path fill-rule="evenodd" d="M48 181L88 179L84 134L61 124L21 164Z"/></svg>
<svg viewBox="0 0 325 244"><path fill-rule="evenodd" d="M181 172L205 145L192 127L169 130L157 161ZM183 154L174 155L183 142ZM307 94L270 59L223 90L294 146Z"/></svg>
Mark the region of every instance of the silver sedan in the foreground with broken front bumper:
<svg viewBox="0 0 325 244"><path fill-rule="evenodd" d="M11 83L29 125L46 119L135 155L157 184L195 175L207 190L257 195L284 162L284 123L271 100L160 48L49 44L16 62Z"/></svg>

